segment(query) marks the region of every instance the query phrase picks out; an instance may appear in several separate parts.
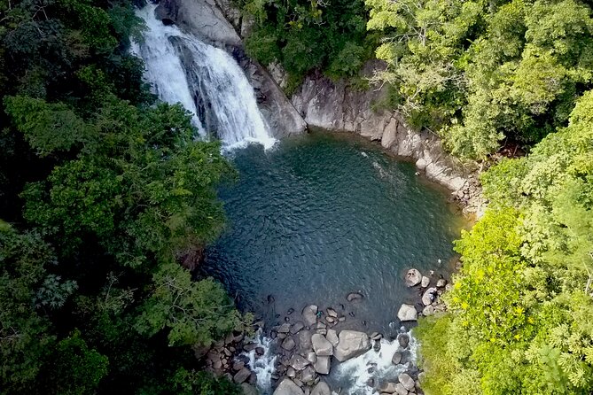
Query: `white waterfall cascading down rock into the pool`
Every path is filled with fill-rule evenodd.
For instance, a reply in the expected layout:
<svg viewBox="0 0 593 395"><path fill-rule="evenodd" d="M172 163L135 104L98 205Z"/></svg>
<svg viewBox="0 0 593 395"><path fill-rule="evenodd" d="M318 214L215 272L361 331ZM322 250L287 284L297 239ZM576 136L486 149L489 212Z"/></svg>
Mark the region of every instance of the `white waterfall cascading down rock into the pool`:
<svg viewBox="0 0 593 395"><path fill-rule="evenodd" d="M155 4L137 11L146 31L132 50L144 59L144 78L160 100L181 103L192 113L201 136L214 133L224 149L275 139L257 107L254 89L234 58L202 43L175 26L165 26L154 15Z"/></svg>

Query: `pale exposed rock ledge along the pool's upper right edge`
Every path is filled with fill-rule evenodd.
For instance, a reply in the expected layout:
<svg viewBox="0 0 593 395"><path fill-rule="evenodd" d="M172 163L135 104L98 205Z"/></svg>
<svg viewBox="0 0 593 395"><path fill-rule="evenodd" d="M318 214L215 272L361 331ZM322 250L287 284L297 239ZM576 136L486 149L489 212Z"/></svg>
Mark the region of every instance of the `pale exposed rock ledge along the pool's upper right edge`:
<svg viewBox="0 0 593 395"><path fill-rule="evenodd" d="M369 73L372 67L368 65ZM303 82L292 102L308 126L354 132L380 142L395 155L412 159L429 180L452 191L465 213L480 216L483 202L475 169L464 167L444 151L438 136L410 129L396 112L373 112L373 104L383 95L384 89L357 91L315 74Z"/></svg>

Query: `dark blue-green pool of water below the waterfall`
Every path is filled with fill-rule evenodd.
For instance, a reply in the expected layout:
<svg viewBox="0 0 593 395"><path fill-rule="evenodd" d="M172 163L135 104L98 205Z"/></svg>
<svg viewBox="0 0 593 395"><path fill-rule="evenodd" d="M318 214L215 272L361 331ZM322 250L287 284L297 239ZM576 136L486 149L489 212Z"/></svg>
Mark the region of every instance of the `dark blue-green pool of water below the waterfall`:
<svg viewBox="0 0 593 395"><path fill-rule="evenodd" d="M229 228L202 270L268 326L316 304L346 315L348 328L389 333L412 298L405 272L447 275L464 220L445 191L377 144L316 133L232 160L240 179L220 191ZM351 291L365 298L348 303Z"/></svg>

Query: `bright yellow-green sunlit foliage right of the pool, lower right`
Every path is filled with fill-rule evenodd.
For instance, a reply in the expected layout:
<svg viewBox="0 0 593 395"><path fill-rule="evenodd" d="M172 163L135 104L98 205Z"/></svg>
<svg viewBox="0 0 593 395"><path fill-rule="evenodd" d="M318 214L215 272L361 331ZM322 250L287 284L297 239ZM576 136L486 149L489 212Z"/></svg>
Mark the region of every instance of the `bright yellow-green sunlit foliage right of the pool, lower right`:
<svg viewBox="0 0 593 395"><path fill-rule="evenodd" d="M456 244L449 313L418 331L426 393L592 391L592 153L589 90L566 128L483 174L490 205Z"/></svg>

